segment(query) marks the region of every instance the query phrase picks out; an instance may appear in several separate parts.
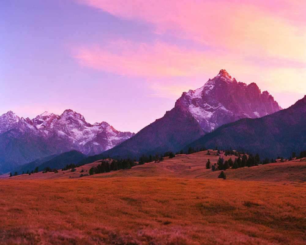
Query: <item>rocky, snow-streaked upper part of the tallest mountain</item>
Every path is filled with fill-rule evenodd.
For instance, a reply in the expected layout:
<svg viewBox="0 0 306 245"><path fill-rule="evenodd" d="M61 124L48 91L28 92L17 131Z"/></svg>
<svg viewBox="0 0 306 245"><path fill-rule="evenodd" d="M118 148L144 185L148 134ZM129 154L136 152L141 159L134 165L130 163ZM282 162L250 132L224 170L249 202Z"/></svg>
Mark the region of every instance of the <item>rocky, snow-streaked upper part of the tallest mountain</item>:
<svg viewBox="0 0 306 245"><path fill-rule="evenodd" d="M201 88L184 92L175 106L190 112L204 132L242 118L259 118L282 109L267 91L261 93L256 83L238 83L224 69Z"/></svg>

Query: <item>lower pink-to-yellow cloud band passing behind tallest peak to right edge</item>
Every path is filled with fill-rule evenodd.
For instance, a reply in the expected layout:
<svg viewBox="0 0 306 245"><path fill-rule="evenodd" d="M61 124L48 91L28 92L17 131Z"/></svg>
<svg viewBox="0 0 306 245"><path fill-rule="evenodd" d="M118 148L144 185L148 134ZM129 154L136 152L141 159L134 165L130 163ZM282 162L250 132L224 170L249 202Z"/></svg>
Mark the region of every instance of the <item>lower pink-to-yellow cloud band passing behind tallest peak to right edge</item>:
<svg viewBox="0 0 306 245"><path fill-rule="evenodd" d="M149 84L151 96L157 97L177 98L183 91L192 89L189 85L191 81L200 87L206 82L203 77L212 78L222 68L237 76L238 81L256 82L262 90L306 91L303 82L305 69L256 65L253 60L244 59L240 53L200 52L162 42L149 45L120 39L110 41L106 46L76 48L74 57L82 66L142 77ZM288 87L290 80L298 86Z"/></svg>

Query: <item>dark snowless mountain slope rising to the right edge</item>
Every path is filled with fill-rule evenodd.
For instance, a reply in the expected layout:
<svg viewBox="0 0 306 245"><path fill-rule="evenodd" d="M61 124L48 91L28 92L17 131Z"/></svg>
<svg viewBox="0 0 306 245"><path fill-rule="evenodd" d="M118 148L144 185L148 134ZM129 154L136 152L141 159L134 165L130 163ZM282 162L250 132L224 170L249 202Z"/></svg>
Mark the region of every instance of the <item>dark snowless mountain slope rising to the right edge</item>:
<svg viewBox="0 0 306 245"><path fill-rule="evenodd" d="M258 119L226 124L185 147L248 150L261 157L306 150L306 96L291 107Z"/></svg>

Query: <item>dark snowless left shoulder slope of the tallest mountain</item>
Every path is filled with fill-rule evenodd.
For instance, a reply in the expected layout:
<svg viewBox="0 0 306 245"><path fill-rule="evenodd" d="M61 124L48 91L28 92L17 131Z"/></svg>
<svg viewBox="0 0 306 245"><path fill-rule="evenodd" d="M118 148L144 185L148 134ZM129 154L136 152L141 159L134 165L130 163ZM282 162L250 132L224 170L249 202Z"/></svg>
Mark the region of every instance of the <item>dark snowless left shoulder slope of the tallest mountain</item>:
<svg viewBox="0 0 306 245"><path fill-rule="evenodd" d="M139 157L182 148L186 142L204 135L199 123L184 108L174 107L134 137L101 154L112 157ZM97 156L99 158L99 156Z"/></svg>

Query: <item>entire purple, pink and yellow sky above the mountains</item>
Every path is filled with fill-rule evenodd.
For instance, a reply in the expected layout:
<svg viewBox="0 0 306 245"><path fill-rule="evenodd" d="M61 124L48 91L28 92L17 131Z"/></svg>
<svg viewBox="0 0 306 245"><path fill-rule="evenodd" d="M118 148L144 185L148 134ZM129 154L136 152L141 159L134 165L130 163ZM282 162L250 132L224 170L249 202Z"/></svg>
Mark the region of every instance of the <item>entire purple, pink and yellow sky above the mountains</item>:
<svg viewBox="0 0 306 245"><path fill-rule="evenodd" d="M288 107L306 94L306 6L273 2L1 1L0 114L137 132L220 69Z"/></svg>

